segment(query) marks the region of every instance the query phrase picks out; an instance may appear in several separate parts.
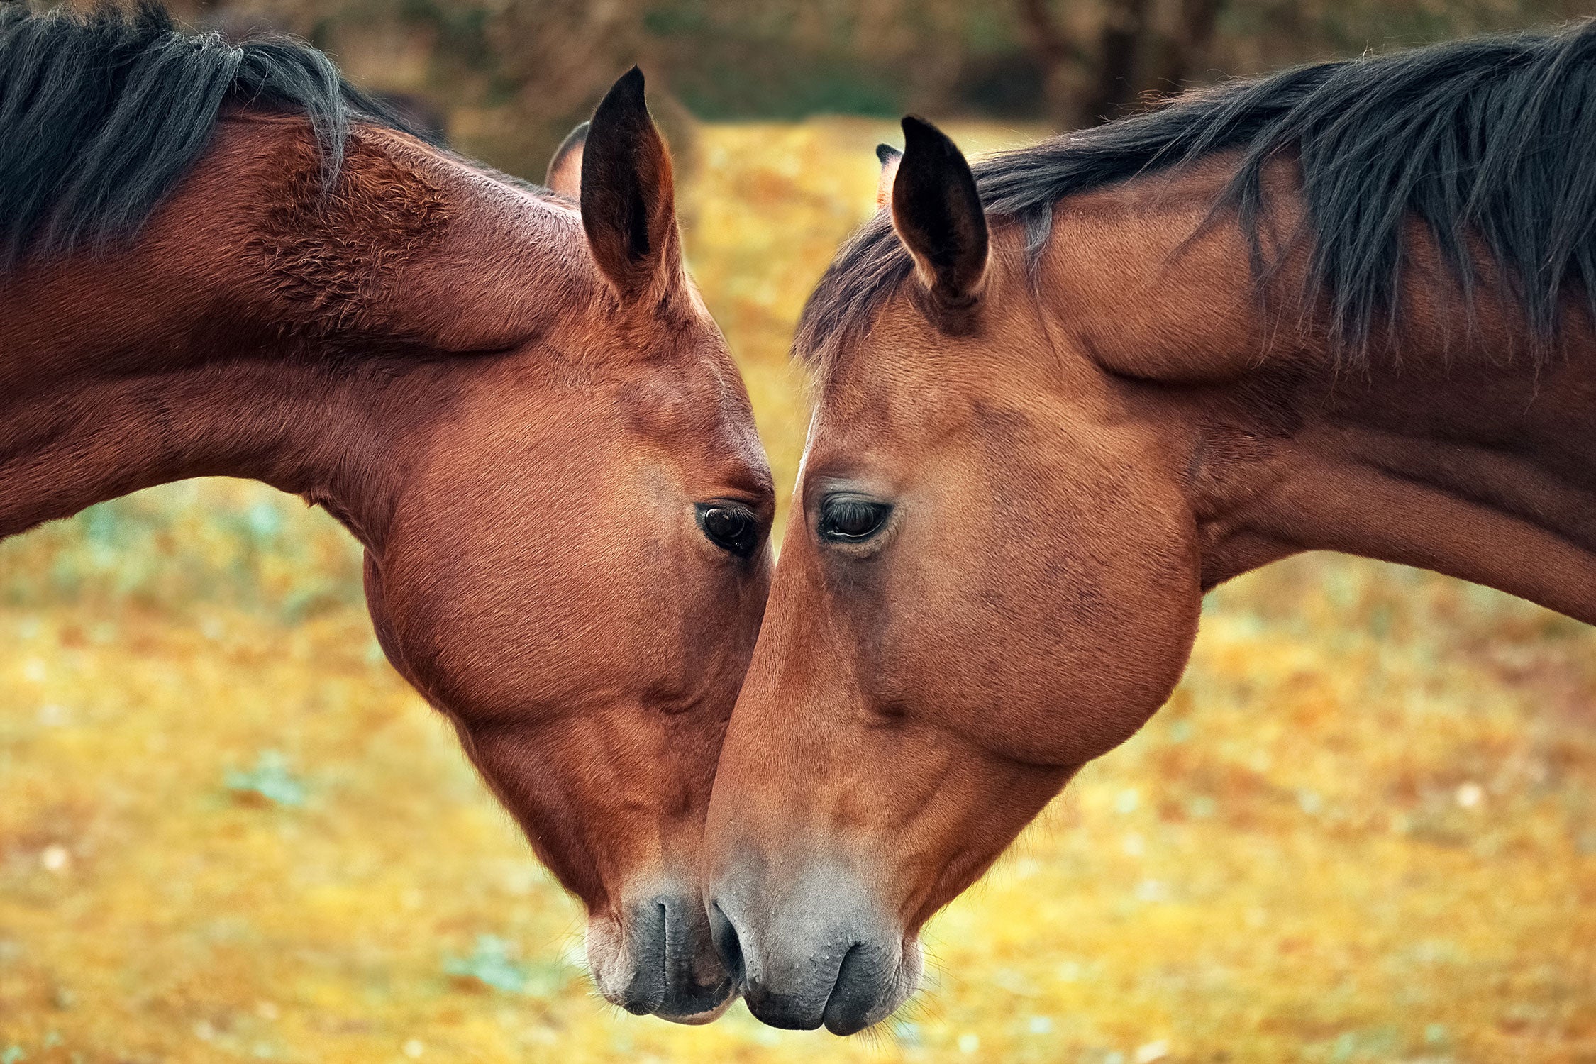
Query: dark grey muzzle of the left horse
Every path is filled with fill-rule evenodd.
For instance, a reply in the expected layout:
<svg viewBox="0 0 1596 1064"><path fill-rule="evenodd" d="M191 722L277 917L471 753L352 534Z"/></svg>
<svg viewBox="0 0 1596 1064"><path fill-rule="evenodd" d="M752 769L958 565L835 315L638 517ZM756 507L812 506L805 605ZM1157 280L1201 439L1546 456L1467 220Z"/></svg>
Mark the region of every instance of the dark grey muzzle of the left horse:
<svg viewBox="0 0 1596 1064"><path fill-rule="evenodd" d="M587 964L605 1000L635 1016L705 1024L731 1005L697 890L661 889L587 924Z"/></svg>

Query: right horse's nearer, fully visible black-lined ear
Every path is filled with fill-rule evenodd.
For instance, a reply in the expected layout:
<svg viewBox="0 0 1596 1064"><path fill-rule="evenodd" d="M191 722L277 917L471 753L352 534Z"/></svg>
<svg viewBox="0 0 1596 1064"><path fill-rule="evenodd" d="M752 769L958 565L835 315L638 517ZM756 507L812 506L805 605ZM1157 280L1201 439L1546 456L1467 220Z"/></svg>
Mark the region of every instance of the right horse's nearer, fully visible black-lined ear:
<svg viewBox="0 0 1596 1064"><path fill-rule="evenodd" d="M986 212L964 155L921 118L903 120L892 228L932 295L954 306L975 298L986 274Z"/></svg>

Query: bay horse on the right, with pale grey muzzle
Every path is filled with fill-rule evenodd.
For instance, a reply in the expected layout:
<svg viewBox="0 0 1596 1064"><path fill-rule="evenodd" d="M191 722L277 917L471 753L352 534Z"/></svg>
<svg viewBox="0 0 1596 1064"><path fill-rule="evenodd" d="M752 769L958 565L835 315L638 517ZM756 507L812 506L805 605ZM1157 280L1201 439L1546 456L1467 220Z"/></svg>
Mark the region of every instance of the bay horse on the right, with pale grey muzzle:
<svg viewBox="0 0 1596 1064"><path fill-rule="evenodd" d="M836 1034L1165 702L1216 584L1341 550L1596 622L1596 24L974 171L903 136L800 322L814 420L705 839L749 1008Z"/></svg>

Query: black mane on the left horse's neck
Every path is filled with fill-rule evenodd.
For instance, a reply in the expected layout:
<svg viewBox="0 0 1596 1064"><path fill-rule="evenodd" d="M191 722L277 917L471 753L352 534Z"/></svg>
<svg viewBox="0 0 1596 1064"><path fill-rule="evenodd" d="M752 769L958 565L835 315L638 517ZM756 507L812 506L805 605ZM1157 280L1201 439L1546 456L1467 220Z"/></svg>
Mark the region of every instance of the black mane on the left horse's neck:
<svg viewBox="0 0 1596 1064"><path fill-rule="evenodd" d="M308 118L329 183L354 121L426 139L287 37L185 33L155 3L78 16L0 0L0 271L136 233L223 107Z"/></svg>

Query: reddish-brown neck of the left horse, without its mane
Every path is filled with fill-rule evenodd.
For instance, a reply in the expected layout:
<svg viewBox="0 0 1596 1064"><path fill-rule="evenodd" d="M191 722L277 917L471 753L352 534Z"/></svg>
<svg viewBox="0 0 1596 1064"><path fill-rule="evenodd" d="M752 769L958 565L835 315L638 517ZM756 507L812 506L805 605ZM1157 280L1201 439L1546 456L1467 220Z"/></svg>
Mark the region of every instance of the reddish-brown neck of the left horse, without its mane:
<svg viewBox="0 0 1596 1064"><path fill-rule="evenodd" d="M225 121L134 246L0 276L0 536L231 475L381 541L474 362L442 356L541 335L563 308L533 289L576 287L547 262L547 209L383 137L358 132L340 195L305 217L305 124Z"/></svg>

